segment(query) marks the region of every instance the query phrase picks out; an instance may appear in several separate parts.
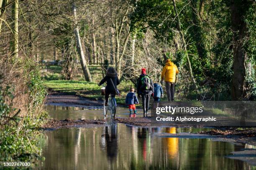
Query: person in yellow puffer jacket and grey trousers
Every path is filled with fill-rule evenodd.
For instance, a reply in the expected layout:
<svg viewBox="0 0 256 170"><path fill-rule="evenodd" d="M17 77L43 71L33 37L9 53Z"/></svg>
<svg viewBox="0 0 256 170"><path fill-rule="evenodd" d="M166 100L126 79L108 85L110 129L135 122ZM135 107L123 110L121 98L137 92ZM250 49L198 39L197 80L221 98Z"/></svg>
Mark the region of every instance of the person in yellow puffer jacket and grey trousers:
<svg viewBox="0 0 256 170"><path fill-rule="evenodd" d="M165 61L165 66L161 74L161 80L165 81L166 93L168 101L174 101L174 86L176 80L176 74L179 73L177 66L167 59Z"/></svg>

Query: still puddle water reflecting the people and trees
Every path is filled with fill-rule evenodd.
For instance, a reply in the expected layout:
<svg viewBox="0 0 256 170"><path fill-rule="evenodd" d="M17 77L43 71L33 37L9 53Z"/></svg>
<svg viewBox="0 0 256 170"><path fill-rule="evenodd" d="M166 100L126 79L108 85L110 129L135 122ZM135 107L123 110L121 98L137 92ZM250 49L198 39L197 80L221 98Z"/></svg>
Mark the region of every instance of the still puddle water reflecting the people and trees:
<svg viewBox="0 0 256 170"><path fill-rule="evenodd" d="M102 110L48 107L57 119L102 118ZM128 110L118 110L127 116ZM46 131L42 169L220 169L247 170L255 167L226 158L245 145L210 139L161 138L161 133L195 133L199 128L138 128L109 121L97 128Z"/></svg>

